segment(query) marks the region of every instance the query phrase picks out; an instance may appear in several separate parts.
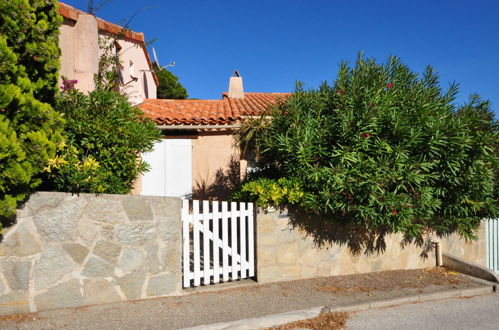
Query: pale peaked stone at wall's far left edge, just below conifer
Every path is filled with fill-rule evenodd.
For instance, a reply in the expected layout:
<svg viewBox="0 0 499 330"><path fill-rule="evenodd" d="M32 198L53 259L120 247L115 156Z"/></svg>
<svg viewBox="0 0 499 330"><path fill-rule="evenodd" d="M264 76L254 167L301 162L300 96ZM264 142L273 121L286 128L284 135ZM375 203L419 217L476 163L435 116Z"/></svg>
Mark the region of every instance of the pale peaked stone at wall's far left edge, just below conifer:
<svg viewBox="0 0 499 330"><path fill-rule="evenodd" d="M26 257L40 253L41 244L31 220L20 219L0 245L0 255Z"/></svg>

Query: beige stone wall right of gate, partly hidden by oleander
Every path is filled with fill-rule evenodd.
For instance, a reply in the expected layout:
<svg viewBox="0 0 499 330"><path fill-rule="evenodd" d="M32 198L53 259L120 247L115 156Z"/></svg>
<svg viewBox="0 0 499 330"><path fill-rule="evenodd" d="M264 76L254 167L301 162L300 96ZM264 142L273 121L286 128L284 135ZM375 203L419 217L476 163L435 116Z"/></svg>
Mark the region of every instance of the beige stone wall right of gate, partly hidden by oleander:
<svg viewBox="0 0 499 330"><path fill-rule="evenodd" d="M317 276L347 275L434 266L435 256L422 260L421 248L400 247L401 235L388 236L383 254L352 255L346 246L319 248L304 232L292 230L289 218L278 212L260 212L256 217L257 279L259 283L297 280ZM464 242L456 237L441 239L443 252L486 264L485 231L479 240Z"/></svg>

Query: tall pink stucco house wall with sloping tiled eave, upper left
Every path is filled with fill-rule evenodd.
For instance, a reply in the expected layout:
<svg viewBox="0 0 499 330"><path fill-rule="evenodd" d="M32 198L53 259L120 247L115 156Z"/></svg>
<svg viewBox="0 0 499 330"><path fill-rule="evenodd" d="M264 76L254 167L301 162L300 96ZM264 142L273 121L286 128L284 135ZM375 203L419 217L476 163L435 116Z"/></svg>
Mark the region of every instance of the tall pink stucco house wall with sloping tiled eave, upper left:
<svg viewBox="0 0 499 330"><path fill-rule="evenodd" d="M94 90L94 74L102 52L99 37L110 38L123 29L62 2L59 13L64 19L59 29L60 75L78 80L77 88L82 92ZM156 98L158 78L152 70L144 34L125 30L123 37L116 41L114 51L121 63L120 89L130 102L135 105Z"/></svg>

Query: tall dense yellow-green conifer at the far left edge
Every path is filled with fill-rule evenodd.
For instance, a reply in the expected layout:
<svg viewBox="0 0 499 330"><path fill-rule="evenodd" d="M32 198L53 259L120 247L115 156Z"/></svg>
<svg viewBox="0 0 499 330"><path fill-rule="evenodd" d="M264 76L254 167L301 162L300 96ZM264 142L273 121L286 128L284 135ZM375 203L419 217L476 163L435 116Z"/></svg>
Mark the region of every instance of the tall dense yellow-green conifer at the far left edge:
<svg viewBox="0 0 499 330"><path fill-rule="evenodd" d="M0 1L0 220L37 187L61 140L55 0Z"/></svg>

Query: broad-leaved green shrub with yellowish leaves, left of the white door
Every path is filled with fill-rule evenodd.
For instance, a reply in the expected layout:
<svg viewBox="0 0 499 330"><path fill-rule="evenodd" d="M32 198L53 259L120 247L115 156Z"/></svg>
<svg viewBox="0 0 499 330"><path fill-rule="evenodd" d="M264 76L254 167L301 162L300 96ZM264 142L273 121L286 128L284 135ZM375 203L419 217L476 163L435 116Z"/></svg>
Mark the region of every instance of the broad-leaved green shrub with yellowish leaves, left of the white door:
<svg viewBox="0 0 499 330"><path fill-rule="evenodd" d="M67 89L56 109L65 119L67 145L46 168L51 189L73 193L127 194L147 170L140 160L160 137L153 121L128 102L126 95Z"/></svg>

